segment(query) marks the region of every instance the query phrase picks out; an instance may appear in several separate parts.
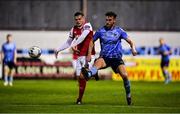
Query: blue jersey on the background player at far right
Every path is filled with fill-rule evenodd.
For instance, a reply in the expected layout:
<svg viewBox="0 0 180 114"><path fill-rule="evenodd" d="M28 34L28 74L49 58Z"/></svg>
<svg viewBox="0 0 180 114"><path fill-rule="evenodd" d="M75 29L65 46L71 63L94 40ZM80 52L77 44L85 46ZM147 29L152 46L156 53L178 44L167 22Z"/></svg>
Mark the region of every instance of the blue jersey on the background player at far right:
<svg viewBox="0 0 180 114"><path fill-rule="evenodd" d="M159 46L159 52L161 54L161 59L162 61L169 61L169 54L168 55L164 55L165 52L169 52L171 50L171 47L166 45L166 44L163 44L163 45L160 45Z"/></svg>

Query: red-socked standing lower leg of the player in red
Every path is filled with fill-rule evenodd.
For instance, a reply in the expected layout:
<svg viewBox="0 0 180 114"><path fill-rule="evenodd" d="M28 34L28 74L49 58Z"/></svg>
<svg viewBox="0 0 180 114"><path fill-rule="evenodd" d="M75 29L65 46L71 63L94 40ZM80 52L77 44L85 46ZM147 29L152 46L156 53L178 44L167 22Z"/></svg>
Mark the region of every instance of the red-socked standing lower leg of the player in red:
<svg viewBox="0 0 180 114"><path fill-rule="evenodd" d="M84 79L82 74L78 76L78 84L79 84L79 96L77 98L76 104L82 104L82 98L84 95L84 91L86 89L86 80Z"/></svg>

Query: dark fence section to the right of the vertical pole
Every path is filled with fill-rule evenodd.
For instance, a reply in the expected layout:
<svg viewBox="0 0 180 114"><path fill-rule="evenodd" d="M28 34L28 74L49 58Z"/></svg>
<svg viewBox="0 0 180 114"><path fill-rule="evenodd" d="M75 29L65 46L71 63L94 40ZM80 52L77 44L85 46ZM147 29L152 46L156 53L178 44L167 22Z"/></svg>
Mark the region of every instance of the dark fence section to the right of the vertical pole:
<svg viewBox="0 0 180 114"><path fill-rule="evenodd" d="M95 27L103 25L109 10L117 12L117 24L128 30L180 30L180 1L89 0L88 16Z"/></svg>

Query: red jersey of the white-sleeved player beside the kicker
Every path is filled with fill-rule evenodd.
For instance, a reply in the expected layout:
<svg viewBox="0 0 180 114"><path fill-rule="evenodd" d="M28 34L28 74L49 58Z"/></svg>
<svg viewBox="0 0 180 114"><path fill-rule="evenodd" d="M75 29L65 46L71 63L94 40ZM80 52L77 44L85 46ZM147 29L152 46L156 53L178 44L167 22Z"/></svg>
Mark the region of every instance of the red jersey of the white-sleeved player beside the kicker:
<svg viewBox="0 0 180 114"><path fill-rule="evenodd" d="M87 30L87 29L90 30L89 34L86 36L84 41L82 41L80 44L77 45L77 49L80 51L79 56L87 56L88 54L89 43L91 39L93 38L92 26L90 23L85 23L82 28L78 28L74 26L70 31L70 37L74 39L80 36L83 30ZM91 55L95 55L94 47L91 52Z"/></svg>

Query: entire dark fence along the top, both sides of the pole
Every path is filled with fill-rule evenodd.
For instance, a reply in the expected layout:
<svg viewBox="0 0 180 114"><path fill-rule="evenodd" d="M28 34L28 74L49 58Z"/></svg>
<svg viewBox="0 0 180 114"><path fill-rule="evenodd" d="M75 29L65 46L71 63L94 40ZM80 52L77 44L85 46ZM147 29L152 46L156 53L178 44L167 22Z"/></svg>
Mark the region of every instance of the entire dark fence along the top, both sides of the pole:
<svg viewBox="0 0 180 114"><path fill-rule="evenodd" d="M1 30L69 30L82 0L1 0ZM126 30L180 31L178 0L87 0L87 18L94 29L106 11L118 14Z"/></svg>

